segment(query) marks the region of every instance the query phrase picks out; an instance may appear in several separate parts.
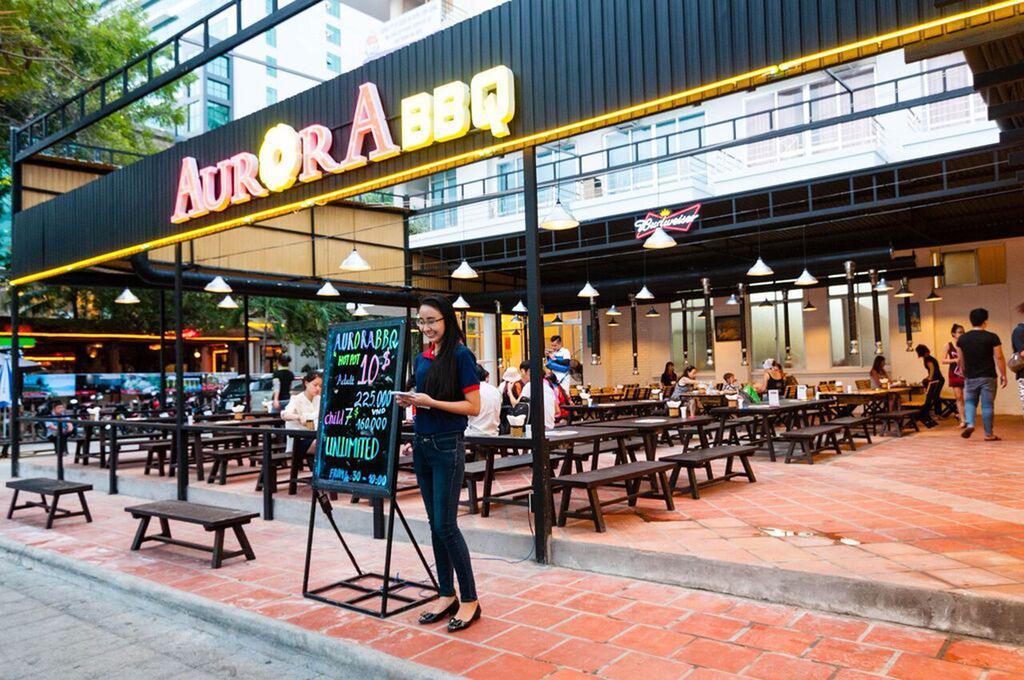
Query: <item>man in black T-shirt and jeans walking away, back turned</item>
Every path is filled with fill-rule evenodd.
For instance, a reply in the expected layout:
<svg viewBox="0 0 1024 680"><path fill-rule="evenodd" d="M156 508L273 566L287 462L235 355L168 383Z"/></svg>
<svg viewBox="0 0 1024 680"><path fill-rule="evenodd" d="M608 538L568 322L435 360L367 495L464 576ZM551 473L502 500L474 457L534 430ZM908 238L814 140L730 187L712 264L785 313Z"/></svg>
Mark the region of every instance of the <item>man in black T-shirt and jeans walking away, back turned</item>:
<svg viewBox="0 0 1024 680"><path fill-rule="evenodd" d="M971 310L971 330L956 341L959 347L958 365L964 376L964 402L967 411L967 427L961 433L965 439L974 433L974 418L981 402L981 420L985 426L985 441L998 441L992 434L992 418L995 411L995 372L998 368L999 386L1007 386L1007 359L1002 356L999 336L990 333L988 310Z"/></svg>

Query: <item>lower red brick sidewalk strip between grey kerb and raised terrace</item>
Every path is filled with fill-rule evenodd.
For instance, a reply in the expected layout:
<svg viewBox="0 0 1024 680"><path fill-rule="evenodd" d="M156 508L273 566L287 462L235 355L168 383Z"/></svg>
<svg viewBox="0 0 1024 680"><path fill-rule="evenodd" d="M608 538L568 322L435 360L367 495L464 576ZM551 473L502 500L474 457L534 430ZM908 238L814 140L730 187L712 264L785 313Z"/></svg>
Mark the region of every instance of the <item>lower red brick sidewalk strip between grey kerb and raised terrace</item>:
<svg viewBox="0 0 1024 680"><path fill-rule="evenodd" d="M123 507L136 501L90 499L92 524L70 519L46 532L41 514L26 512L0 521L0 536L469 677L1024 677L1024 651L1008 645L482 555L475 563L485 617L449 635L416 625L417 612L382 622L297 595L301 527L256 521L257 560L211 571L205 555L180 548L130 552L135 525ZM8 501L3 490L0 503ZM202 532L176 534L206 540ZM332 542L317 533L319 580L350 575ZM380 542L350 542L365 568L380 568ZM402 576L418 575L408 545L397 544L396 556Z"/></svg>

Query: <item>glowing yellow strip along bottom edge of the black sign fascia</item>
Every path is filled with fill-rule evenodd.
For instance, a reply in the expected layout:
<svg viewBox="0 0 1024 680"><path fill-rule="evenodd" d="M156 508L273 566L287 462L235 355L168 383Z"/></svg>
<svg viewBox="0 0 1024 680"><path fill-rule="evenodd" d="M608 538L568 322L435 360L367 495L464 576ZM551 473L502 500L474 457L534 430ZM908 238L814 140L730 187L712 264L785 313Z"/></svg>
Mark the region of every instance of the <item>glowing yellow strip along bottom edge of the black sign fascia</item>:
<svg viewBox="0 0 1024 680"><path fill-rule="evenodd" d="M697 87L690 88L688 90L683 90L681 92L676 92L674 94L669 94L667 96L651 99L650 101L644 101L642 103L633 104L625 109L620 109L607 114L601 114L600 116L594 116L575 123L568 123L560 127L552 128L550 130L545 130L543 132L535 132L534 134L526 135L524 137L518 137L516 139L509 139L502 141L497 144L492 144L484 148L467 152L465 154L459 154L457 156L451 156L446 159L441 159L439 161L432 161L415 168L410 168L409 170L402 170L400 172L394 172L383 177L378 177L376 179L369 179L357 184L351 184L343 188L334 189L323 194L313 199L304 199L302 201L297 201L295 203L290 203L284 206L279 206L275 208L268 208L266 210L261 210L245 217L236 217L233 219L225 220L223 222L217 222L216 224L210 224L209 226L203 226L190 231L183 231L181 233L175 233L173 236L164 237L162 239L157 239L148 243L139 244L136 246L129 246L128 248L121 248L119 250L111 251L102 255L96 255L94 257L89 257L84 260L79 260L71 264L66 264L59 267L53 267L51 269L45 269L32 274L27 274L25 277L19 277L10 282L11 286L23 286L25 284L30 284L35 281L41 281L43 279L48 279L50 277L55 277L61 273L67 273L69 271L74 271L76 269L81 269L84 267L92 266L93 264L100 264L102 262L108 262L110 260L129 257L138 253L152 250L154 248L163 248L165 246L171 246L176 243L181 243L184 241L191 241L193 239L200 239L202 237L217 233L218 231L223 231L225 229L234 228L237 226L245 226L251 224L255 221L262 219L270 219L273 217L280 217L297 210L302 210L304 208L309 208L316 203L335 201L340 199L349 198L352 196L358 196L366 192L373 190L375 188L381 188L384 186L389 186L392 184L397 184L402 181L409 181L417 177L422 177L423 175L432 174L434 172L439 172L441 170L446 170L449 168L463 165L464 163L469 163L473 161L479 161L490 156L500 156L503 154L508 154L525 146L543 143L545 141L551 141L553 139L558 139L562 137L567 137L572 134L579 134L585 132L589 129L595 127L600 127L602 125L611 124L622 120L628 120L631 118L639 118L641 116L656 113L658 111L664 111L666 109L672 109L675 107L680 107L686 103L688 100L692 99L701 94L706 94L713 90L718 90L724 87L729 87L736 85L745 81L757 81L758 79L768 79L772 76L778 75L783 72L793 71L801 67L806 67L812 65L815 61L822 59L827 59L829 57L839 57L841 54L845 54L850 51L857 51L863 48L874 47L881 49L883 44L886 42L891 42L894 40L899 40L900 38L905 38L912 34L930 31L934 29L939 29L950 24L955 24L957 22L965 22L976 16L981 16L982 14L988 14L990 12L999 11L1002 9L1016 9L1020 5L1024 4L1024 0L1002 0L1001 2L995 2L984 7L978 7L976 9L971 9L956 14L950 14L942 18L932 19L930 22L925 22L916 26L908 27L906 29L900 29L899 31L892 31L890 33L885 33L873 38L867 38L864 40L858 40L857 42L847 43L845 45L840 45L838 47L833 47L830 49L822 50L819 52L814 52L813 54L807 54L800 56L796 59L790 61L783 61L781 63L772 65L764 67L762 69L757 69L755 71L749 71L746 73L740 74L738 76L732 76L730 78L725 78L723 80L716 81L714 83L709 83L707 85L699 85Z"/></svg>

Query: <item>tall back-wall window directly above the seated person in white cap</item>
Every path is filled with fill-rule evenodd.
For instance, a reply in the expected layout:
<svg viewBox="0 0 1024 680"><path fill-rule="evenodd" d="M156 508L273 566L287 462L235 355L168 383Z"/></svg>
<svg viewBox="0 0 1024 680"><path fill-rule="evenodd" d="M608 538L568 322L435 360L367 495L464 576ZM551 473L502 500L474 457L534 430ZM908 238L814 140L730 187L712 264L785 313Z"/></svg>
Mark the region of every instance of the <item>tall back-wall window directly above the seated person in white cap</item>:
<svg viewBox="0 0 1024 680"><path fill-rule="evenodd" d="M804 294L790 291L787 302L782 293L751 295L751 366L759 367L773 358L792 368L806 365L804 352ZM770 305L763 306L765 302ZM790 357L785 355L785 313L790 314Z"/></svg>

